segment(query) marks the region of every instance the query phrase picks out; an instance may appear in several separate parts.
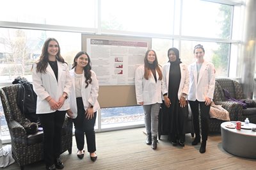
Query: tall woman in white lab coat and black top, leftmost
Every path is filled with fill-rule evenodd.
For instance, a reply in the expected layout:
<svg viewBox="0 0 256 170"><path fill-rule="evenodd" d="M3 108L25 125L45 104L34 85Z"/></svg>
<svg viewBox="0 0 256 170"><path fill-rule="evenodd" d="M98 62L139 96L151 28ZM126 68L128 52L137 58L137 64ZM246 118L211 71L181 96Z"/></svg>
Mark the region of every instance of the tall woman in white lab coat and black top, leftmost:
<svg viewBox="0 0 256 170"><path fill-rule="evenodd" d="M33 87L37 95L36 114L44 129L44 160L47 169L63 169L60 160L61 128L66 111L66 101L72 86L67 63L60 54L55 38L45 40L42 54L32 68Z"/></svg>

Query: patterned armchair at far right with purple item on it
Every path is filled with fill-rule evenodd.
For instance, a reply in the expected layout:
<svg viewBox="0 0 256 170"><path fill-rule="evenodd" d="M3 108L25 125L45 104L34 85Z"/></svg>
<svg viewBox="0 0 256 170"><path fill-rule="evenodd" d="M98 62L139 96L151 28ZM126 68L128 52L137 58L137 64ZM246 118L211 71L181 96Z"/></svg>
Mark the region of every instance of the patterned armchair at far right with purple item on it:
<svg viewBox="0 0 256 170"><path fill-rule="evenodd" d="M233 81L231 79L216 79L221 86L221 89L226 89L230 93L230 97L235 98L237 100L245 100L243 96L243 87L237 81ZM221 97L221 101L225 101L225 97ZM256 105L255 100L246 100L248 102L252 102L253 105ZM247 109L243 109L243 106L237 104L236 108L236 120L244 121L245 118L249 118L250 123L256 123L256 107L248 107Z"/></svg>

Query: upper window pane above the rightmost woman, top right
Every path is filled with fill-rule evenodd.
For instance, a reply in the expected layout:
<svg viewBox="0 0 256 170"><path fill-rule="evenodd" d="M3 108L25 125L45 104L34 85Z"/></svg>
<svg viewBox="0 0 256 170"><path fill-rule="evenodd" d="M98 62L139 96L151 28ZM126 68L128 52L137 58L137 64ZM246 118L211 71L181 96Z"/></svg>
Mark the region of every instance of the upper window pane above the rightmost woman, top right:
<svg viewBox="0 0 256 170"><path fill-rule="evenodd" d="M182 35L230 38L232 6L199 0L184 0Z"/></svg>

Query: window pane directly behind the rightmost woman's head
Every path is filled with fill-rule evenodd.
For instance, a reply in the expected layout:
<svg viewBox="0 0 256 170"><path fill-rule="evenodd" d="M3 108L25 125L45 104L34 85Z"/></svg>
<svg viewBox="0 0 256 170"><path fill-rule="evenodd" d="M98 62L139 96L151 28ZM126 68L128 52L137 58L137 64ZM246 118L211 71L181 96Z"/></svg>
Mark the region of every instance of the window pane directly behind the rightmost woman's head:
<svg viewBox="0 0 256 170"><path fill-rule="evenodd" d="M204 59L214 64L216 76L228 77L229 43L182 41L180 50L181 61L187 65L195 61L193 50L198 43L204 46Z"/></svg>

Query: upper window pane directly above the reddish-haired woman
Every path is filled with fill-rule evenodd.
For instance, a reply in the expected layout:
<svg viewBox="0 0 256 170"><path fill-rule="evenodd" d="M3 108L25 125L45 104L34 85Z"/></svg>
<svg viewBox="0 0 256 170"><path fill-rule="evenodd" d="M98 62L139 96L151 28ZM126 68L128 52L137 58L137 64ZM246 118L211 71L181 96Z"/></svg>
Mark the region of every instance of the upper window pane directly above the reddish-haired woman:
<svg viewBox="0 0 256 170"><path fill-rule="evenodd" d="M102 0L102 29L173 33L173 0Z"/></svg>

